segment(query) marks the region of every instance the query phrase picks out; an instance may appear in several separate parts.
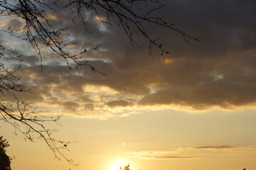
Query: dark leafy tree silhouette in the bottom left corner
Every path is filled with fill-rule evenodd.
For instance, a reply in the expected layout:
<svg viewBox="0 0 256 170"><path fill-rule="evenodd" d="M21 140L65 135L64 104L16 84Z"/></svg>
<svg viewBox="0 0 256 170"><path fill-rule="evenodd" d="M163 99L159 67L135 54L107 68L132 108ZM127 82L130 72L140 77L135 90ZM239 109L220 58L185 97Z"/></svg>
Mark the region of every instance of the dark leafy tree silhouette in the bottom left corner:
<svg viewBox="0 0 256 170"><path fill-rule="evenodd" d="M9 147L9 142L0 137L0 169L11 170L11 159L6 154L6 147Z"/></svg>

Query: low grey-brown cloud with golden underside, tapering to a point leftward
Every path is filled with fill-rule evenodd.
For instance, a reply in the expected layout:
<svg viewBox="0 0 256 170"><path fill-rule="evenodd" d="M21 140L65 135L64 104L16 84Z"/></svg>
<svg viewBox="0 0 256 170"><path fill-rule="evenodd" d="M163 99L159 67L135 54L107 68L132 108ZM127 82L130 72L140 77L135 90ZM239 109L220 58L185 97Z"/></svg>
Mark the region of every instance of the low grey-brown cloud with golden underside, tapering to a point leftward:
<svg viewBox="0 0 256 170"><path fill-rule="evenodd" d="M255 105L255 88L252 86L239 86L224 82L213 84L199 84L196 87L173 87L157 91L144 96L139 104L174 104L178 106L192 106L196 109L206 109L211 106L242 106Z"/></svg>

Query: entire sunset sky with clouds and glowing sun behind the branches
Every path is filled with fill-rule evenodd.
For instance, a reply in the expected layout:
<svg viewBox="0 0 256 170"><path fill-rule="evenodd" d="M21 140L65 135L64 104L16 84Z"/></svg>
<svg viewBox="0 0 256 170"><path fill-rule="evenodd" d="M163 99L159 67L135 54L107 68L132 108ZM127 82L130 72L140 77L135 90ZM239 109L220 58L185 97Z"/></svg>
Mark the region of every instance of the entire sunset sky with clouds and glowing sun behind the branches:
<svg viewBox="0 0 256 170"><path fill-rule="evenodd" d="M161 38L161 55L137 34L132 47L122 28L88 17L92 33L70 21L71 11L48 12L54 26L68 26L75 52L83 45L99 50L88 67L68 69L60 57L40 58L21 40L1 33L23 57L17 74L33 93L19 94L42 114L63 114L55 137L74 141L65 154L80 166L54 159L42 140L27 142L1 122L0 135L15 156L12 169L137 170L256 169L256 2L240 0L162 1L155 16L202 41L145 23ZM151 7L151 6L149 6ZM1 28L21 28L18 18L4 18ZM52 126L52 125L50 125Z"/></svg>

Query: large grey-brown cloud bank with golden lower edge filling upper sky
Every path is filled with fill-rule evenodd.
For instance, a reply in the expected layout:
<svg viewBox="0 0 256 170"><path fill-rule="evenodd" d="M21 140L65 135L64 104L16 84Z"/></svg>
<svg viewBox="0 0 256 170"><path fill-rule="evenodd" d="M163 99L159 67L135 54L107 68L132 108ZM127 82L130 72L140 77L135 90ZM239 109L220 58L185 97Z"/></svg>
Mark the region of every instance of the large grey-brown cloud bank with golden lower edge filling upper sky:
<svg viewBox="0 0 256 170"><path fill-rule="evenodd" d="M83 57L107 76L94 74L88 67L70 70L54 56L43 57L41 73L38 58L24 54L26 61L18 75L36 94L24 94L24 98L60 110L73 107L68 112L74 115L108 118L160 106L189 110L256 106L256 23L251 17L256 15L255 1L164 3L168 6L156 11L158 16L204 40L188 44L171 30L146 24L147 33L161 38L170 51L161 56L153 49L149 55L142 36L134 34L142 46L134 48L122 29L103 26L93 15L87 18L93 34L86 33L80 21L74 25L70 20L74 13L56 9L50 23L68 26L70 40L77 42L69 47L71 51L101 45Z"/></svg>

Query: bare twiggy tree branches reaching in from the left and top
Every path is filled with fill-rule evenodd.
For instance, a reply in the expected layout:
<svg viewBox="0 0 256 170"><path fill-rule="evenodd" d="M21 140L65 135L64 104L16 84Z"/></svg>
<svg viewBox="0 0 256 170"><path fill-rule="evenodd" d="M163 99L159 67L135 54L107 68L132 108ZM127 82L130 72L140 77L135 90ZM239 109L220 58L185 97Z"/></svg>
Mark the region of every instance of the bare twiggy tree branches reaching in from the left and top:
<svg viewBox="0 0 256 170"><path fill-rule="evenodd" d="M153 7L152 7L153 6ZM97 17L102 23L121 27L127 34L132 46L139 47L134 35L142 35L149 43L149 52L153 47L158 48L161 54L169 54L159 40L154 40L146 30L146 24L154 24L173 30L180 34L186 42L200 40L185 31L180 30L164 20L154 16L154 11L160 10L165 4L159 0L14 0L0 1L0 17L16 18L22 21L21 28L14 29L11 26L0 28L0 32L11 35L14 38L28 42L37 57L41 60L43 71L43 56L59 56L65 60L70 69L80 66L90 67L92 72L101 72L93 67L83 57L85 52L97 50L99 47L82 47L79 52L69 52L68 46L74 42L68 41L68 28L59 28L47 17L48 13L57 13L65 10L73 13L70 21L73 24L82 22L84 30L90 33L84 13L90 13L91 18ZM1 37L0 37L1 38ZM21 132L27 140L33 141L36 137L43 138L56 158L63 157L62 149L66 149L70 142L56 140L53 132L46 127L46 122L58 123L60 115L46 116L36 113L31 108L31 103L26 103L17 94L30 91L19 83L20 77L16 76L19 67L6 67L4 60L21 60L17 50L12 49L4 40L0 39L0 120L10 123L16 131ZM129 168L129 166L127 167Z"/></svg>

